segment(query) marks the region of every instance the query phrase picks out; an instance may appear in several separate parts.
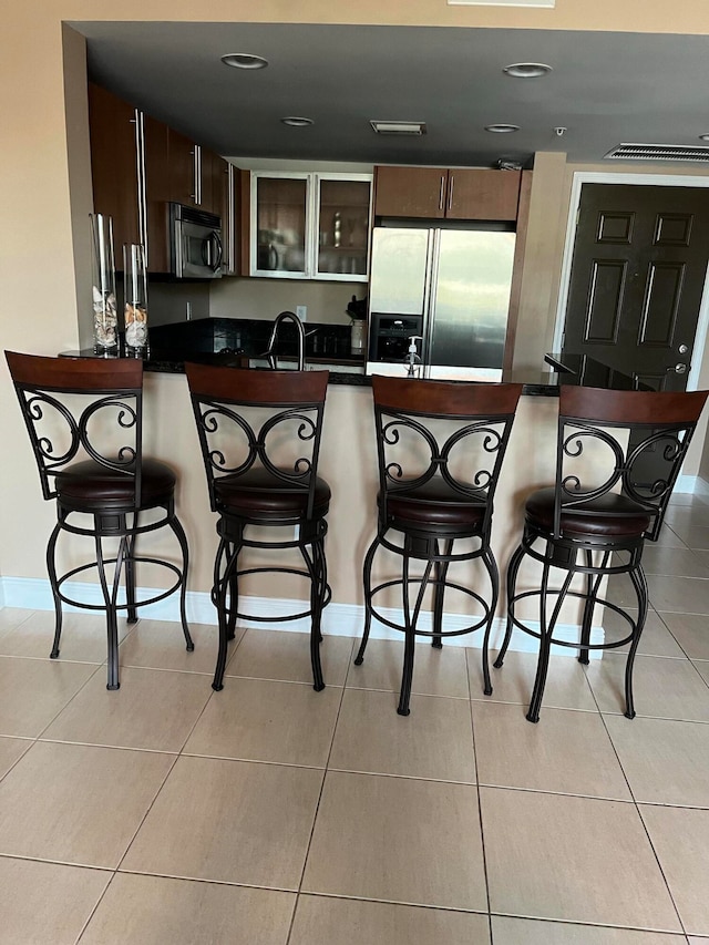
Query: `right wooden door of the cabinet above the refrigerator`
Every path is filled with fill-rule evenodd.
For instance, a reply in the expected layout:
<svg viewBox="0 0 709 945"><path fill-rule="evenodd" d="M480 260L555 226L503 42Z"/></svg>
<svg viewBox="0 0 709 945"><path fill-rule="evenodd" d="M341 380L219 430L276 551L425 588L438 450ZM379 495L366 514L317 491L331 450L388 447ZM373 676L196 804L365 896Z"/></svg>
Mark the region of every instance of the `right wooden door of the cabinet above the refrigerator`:
<svg viewBox="0 0 709 945"><path fill-rule="evenodd" d="M448 219L516 219L521 176L521 171L450 170L445 216Z"/></svg>

